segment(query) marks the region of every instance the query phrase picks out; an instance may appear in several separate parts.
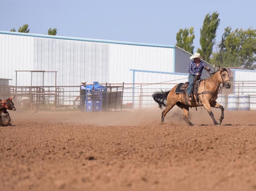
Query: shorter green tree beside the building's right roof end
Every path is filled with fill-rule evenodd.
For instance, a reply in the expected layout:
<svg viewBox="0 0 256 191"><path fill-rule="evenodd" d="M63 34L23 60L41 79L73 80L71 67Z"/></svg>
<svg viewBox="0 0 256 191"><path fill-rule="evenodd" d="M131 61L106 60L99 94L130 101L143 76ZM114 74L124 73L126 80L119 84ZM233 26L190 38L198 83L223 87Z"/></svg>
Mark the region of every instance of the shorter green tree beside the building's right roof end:
<svg viewBox="0 0 256 191"><path fill-rule="evenodd" d="M185 51L194 54L193 41L195 39L194 35L194 27L190 27L190 29L179 29L179 32L176 34L176 46L184 49Z"/></svg>

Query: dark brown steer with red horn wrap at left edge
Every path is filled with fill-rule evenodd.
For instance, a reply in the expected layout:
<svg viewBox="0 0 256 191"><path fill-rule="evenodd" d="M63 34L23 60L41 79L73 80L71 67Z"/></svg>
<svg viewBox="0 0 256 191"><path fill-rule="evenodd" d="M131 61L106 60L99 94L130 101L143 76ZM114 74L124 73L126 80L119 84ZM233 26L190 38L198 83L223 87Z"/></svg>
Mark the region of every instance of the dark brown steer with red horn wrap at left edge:
<svg viewBox="0 0 256 191"><path fill-rule="evenodd" d="M10 109L10 110L13 110L15 111L16 108L14 107L14 103L12 102L12 99L15 97L15 95L13 97L10 97L6 100L1 100L0 99L0 126L8 126L8 125L11 125L10 123L10 115L7 111L7 109ZM8 119L8 122L5 122L4 124L2 123L2 116L1 116L1 113L5 113L7 115L7 119Z"/></svg>

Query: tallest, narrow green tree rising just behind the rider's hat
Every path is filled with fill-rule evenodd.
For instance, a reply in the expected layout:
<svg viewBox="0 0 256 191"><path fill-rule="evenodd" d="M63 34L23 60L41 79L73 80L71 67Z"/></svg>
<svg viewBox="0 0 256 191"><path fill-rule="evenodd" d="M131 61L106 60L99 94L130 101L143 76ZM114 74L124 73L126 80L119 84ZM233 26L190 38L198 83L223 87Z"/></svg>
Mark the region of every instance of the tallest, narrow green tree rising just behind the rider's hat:
<svg viewBox="0 0 256 191"><path fill-rule="evenodd" d="M200 29L200 45L201 49L198 49L206 62L210 61L211 55L213 53L213 46L216 43L216 31L220 25L219 13L213 12L212 15L208 13L205 16L204 24L202 29Z"/></svg>

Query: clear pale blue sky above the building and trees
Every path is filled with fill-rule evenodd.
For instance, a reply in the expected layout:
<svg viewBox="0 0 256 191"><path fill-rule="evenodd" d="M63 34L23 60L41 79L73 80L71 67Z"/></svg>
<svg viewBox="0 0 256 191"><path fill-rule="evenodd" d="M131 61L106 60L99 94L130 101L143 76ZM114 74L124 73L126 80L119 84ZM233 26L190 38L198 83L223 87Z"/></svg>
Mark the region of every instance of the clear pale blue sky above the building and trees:
<svg viewBox="0 0 256 191"><path fill-rule="evenodd" d="M179 29L194 27L194 52L208 13L217 11L224 29L255 29L255 0L0 0L0 30L135 43L175 45ZM215 48L214 48L215 51Z"/></svg>

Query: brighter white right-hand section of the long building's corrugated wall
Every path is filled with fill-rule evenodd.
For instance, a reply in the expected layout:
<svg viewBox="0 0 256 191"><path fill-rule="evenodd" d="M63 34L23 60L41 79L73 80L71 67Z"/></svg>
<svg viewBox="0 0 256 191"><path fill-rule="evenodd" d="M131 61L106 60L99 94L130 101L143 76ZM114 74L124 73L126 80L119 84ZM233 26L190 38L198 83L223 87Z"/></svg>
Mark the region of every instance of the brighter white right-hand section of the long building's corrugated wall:
<svg viewBox="0 0 256 191"><path fill-rule="evenodd" d="M150 46L111 44L109 82L132 83L130 69L173 72L174 49ZM140 83L147 83L140 78Z"/></svg>

